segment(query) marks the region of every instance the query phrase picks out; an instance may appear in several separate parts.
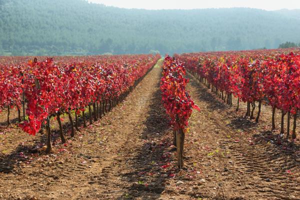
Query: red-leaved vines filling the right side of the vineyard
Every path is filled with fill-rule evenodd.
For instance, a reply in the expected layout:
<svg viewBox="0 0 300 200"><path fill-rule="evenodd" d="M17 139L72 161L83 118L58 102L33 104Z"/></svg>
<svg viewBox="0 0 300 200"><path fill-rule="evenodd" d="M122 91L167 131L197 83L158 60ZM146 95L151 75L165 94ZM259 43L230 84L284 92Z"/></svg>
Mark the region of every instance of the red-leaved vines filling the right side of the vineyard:
<svg viewBox="0 0 300 200"><path fill-rule="evenodd" d="M281 130L287 113L286 138L289 137L290 113L294 116L292 139L296 138L296 112L300 108L300 50L283 49L231 52L185 53L175 55L187 69L208 88L232 104L231 94L247 103L245 116L254 118L258 102L258 122L262 101L272 107L272 129L275 109L281 110ZM225 92L225 94L223 94ZM251 107L252 108L251 108Z"/></svg>

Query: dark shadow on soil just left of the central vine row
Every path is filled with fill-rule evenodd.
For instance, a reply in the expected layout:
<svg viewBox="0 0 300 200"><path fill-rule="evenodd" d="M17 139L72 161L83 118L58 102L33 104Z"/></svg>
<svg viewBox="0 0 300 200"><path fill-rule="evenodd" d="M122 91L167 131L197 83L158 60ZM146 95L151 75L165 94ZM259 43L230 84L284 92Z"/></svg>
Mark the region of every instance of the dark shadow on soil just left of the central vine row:
<svg viewBox="0 0 300 200"><path fill-rule="evenodd" d="M150 110L147 113L148 117L144 121L146 127L140 135L140 139L145 140L145 143L138 150L138 154L127 162L135 170L123 174L123 178L134 182L117 199L135 199L137 197L140 199L157 199L165 188L163 182L169 178L168 176L161 176L162 169L160 167L172 160L172 158L163 156L163 153L169 150L172 141L171 138L166 138L165 135L170 131L168 119L165 110L161 106L160 90L157 89L152 96ZM159 143L154 140L158 140ZM155 176L156 173L157 176ZM155 175L151 177L151 174ZM150 179L150 183L147 178Z"/></svg>

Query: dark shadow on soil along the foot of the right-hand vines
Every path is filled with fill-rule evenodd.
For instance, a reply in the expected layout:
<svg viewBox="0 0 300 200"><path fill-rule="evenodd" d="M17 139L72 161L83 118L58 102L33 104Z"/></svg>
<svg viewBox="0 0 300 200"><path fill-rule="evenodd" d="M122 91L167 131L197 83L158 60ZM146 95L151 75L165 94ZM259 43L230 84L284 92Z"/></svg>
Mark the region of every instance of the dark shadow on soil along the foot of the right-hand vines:
<svg viewBox="0 0 300 200"><path fill-rule="evenodd" d="M196 92L199 100L204 101L208 104L206 109L208 109L209 111L220 110L224 116L228 116L228 118L230 119L230 123L228 123L227 126L231 127L234 131L241 130L245 132L252 132L252 138L255 141L254 143L270 143L271 145L268 145L267 148L263 148L260 150L267 152L266 157L269 157L270 159L281 158L286 160L281 165L281 167L283 168L282 170L286 170L286 168L290 168L291 166L296 165L295 158L299 156L296 154L296 152L300 150L298 144L286 140L285 137L280 137L278 131L273 132L270 129L255 131L255 128L258 127L258 123L255 123L253 120L250 120L247 117L240 116L237 112L234 111L234 108L232 106L228 106L225 103L221 102L221 99L217 98L196 79L194 79L189 74L187 76L188 78L190 78L190 84L193 87L197 88ZM245 112L245 110L241 110ZM287 157L286 155L289 155L289 157Z"/></svg>

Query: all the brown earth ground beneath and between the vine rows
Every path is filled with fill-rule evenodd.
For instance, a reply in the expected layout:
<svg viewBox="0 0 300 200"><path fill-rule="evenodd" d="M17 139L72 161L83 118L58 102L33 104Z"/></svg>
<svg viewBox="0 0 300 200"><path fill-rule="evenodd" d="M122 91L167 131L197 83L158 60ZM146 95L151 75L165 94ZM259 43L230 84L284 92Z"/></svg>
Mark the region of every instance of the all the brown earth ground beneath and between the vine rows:
<svg viewBox="0 0 300 200"><path fill-rule="evenodd" d="M154 67L66 145L54 134L49 155L40 150L45 135L7 128L1 113L0 199L300 199L299 141L278 144L270 108L254 123L243 117L245 103L235 112L193 78L187 89L201 112L189 120L177 170L160 75Z"/></svg>

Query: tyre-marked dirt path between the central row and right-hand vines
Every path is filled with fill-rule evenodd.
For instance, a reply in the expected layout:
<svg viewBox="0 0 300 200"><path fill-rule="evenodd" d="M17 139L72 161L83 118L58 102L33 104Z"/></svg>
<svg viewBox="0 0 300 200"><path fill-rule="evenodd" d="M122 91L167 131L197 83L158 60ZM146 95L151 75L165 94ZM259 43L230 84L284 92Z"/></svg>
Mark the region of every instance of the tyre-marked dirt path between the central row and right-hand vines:
<svg viewBox="0 0 300 200"><path fill-rule="evenodd" d="M201 112L189 120L190 179L178 186L179 193L199 199L300 199L299 142L274 142L270 109L263 108L267 117L256 124L243 117L244 103L236 112L189 77L187 89Z"/></svg>

